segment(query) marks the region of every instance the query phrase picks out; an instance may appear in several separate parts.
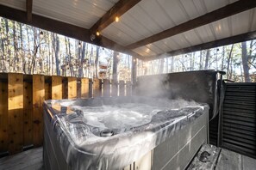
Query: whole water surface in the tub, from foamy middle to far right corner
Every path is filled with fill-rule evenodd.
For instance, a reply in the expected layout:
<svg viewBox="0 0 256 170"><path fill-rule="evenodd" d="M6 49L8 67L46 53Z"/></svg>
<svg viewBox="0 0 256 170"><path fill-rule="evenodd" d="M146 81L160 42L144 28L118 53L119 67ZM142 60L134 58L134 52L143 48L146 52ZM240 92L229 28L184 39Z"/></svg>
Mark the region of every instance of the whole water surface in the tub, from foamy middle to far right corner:
<svg viewBox="0 0 256 170"><path fill-rule="evenodd" d="M93 127L129 129L150 123L153 115L160 111L179 109L185 106L198 106L195 102L185 100L141 99L138 97L134 98L133 101L133 103L103 106L72 106L72 108L82 111L84 123Z"/></svg>

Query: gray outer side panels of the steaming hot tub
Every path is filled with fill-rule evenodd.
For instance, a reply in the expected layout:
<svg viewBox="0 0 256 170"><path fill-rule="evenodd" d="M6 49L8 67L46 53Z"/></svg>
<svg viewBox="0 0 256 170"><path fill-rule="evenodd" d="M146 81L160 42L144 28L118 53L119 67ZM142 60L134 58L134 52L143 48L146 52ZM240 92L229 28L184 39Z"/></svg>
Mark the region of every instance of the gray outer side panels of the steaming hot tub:
<svg viewBox="0 0 256 170"><path fill-rule="evenodd" d="M76 105L94 105L97 103L96 100L104 100L111 104L111 100L114 103L127 102L131 100L131 97L76 100ZM61 103L62 101L68 100L57 102ZM66 139L65 131L62 131L58 121L53 118L54 111L49 106L50 102L52 101L47 101L44 104L44 163L46 169L129 169L129 167L184 169L202 144L208 143L209 107L204 105L203 111L196 112L190 118L185 118L184 122L171 124L165 128L165 131L157 133L153 145L140 146L140 149L133 149L131 146L128 153L104 155L101 152L97 153L97 150L93 149L93 145L88 146L91 149L86 149L86 146L85 149L81 149L80 146L70 143ZM158 117L155 119L153 121L158 121ZM159 131L159 127L150 131ZM119 143L122 143L122 137L118 140ZM141 140L143 141L143 136ZM106 147L108 145L111 148L111 144L107 143ZM91 150L101 156L86 155L86 152L91 153ZM97 161L98 159L101 161Z"/></svg>

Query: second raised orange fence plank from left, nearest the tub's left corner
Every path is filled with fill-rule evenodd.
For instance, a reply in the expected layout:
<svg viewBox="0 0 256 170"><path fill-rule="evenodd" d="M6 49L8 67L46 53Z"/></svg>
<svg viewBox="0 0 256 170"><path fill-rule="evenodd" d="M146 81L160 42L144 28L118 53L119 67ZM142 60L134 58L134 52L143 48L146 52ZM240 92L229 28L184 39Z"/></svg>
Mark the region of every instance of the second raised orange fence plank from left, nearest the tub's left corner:
<svg viewBox="0 0 256 170"><path fill-rule="evenodd" d="M33 143L41 146L43 142L43 110L42 104L45 100L45 77L33 75Z"/></svg>

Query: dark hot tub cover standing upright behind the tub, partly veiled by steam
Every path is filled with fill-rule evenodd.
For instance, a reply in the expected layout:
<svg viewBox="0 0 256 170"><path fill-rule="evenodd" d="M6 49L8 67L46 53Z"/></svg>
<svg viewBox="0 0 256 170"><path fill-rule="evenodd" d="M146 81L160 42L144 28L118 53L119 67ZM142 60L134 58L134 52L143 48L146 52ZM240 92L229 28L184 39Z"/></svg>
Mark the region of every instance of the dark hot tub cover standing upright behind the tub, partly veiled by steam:
<svg viewBox="0 0 256 170"><path fill-rule="evenodd" d="M208 103L210 120L218 113L218 82L222 74L225 73L216 70L198 70L140 76L134 86L133 94Z"/></svg>

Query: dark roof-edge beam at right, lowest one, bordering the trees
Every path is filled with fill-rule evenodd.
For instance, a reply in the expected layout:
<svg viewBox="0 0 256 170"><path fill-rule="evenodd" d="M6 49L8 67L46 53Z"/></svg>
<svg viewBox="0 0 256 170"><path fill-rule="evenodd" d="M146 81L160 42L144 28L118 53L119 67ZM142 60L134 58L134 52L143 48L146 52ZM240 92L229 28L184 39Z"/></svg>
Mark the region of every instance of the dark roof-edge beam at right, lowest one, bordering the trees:
<svg viewBox="0 0 256 170"><path fill-rule="evenodd" d="M228 37L225 39L218 39L218 40L211 41L208 43L203 43L201 45L190 46L187 48L183 48L183 49L179 49L179 50L175 50L175 51L171 51L171 52L166 52L164 54L159 54L157 56L145 57L144 60L168 58L171 56L177 56L177 55L185 54L185 53L189 53L189 52L202 51L202 50L206 50L209 48L215 48L218 46L227 46L227 45L231 45L231 44L235 44L235 43L239 43L239 42L243 42L243 41L247 41L247 40L252 40L252 39L256 39L256 31L249 32L249 33L242 33L240 35L235 35L233 37Z"/></svg>

